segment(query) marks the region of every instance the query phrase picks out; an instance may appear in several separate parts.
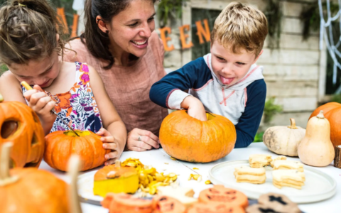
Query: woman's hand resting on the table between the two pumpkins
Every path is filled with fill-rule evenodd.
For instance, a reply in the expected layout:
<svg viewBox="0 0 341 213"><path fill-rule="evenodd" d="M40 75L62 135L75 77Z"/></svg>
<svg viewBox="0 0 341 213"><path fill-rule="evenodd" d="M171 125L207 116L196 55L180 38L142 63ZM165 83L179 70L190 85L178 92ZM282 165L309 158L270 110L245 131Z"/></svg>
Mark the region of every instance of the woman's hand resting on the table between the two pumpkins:
<svg viewBox="0 0 341 213"><path fill-rule="evenodd" d="M126 149L128 151L141 152L159 147L158 136L151 133L151 131L135 128L128 133L126 140Z"/></svg>

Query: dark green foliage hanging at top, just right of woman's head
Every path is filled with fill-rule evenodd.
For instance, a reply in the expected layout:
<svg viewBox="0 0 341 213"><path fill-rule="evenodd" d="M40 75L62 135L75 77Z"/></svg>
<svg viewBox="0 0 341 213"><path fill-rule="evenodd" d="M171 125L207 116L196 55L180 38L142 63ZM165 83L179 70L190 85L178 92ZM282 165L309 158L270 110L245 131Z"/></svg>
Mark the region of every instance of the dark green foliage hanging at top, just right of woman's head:
<svg viewBox="0 0 341 213"><path fill-rule="evenodd" d="M188 0L161 0L158 4L158 20L161 28L167 25L168 18L181 18L183 4Z"/></svg>

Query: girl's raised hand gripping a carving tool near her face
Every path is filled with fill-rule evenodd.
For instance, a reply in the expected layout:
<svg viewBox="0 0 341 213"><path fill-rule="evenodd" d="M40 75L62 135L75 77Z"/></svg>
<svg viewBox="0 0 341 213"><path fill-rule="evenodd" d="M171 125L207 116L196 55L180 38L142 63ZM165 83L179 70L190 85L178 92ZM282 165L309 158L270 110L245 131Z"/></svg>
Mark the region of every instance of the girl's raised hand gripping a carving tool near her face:
<svg viewBox="0 0 341 213"><path fill-rule="evenodd" d="M28 106L38 114L41 120L55 120L55 115L50 111L55 107L55 102L48 94L43 92L38 85L34 85L33 89L26 91L23 97L28 101Z"/></svg>

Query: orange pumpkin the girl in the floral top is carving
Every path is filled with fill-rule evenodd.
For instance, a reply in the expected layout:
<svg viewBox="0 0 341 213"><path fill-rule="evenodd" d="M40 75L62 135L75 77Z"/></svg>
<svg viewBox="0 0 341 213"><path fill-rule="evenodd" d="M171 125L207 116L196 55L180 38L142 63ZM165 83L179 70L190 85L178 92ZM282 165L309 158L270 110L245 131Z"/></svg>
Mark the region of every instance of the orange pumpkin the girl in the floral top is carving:
<svg viewBox="0 0 341 213"><path fill-rule="evenodd" d="M110 150L103 148L101 136L91 131L55 131L45 137L44 160L50 167L66 171L72 154L80 156L80 171L90 170L105 162L104 155Z"/></svg>

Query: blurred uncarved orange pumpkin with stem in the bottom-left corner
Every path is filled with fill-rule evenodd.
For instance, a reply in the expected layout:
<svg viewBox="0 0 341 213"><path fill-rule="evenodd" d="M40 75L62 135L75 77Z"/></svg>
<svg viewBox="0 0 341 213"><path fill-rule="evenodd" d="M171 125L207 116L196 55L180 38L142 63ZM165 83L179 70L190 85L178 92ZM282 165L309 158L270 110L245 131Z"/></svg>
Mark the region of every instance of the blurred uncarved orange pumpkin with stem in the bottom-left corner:
<svg viewBox="0 0 341 213"><path fill-rule="evenodd" d="M67 184L37 168L9 171L12 143L4 143L0 162L0 212L67 213Z"/></svg>

